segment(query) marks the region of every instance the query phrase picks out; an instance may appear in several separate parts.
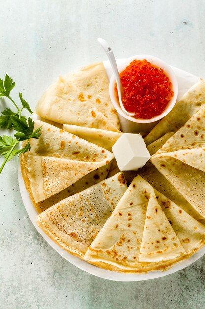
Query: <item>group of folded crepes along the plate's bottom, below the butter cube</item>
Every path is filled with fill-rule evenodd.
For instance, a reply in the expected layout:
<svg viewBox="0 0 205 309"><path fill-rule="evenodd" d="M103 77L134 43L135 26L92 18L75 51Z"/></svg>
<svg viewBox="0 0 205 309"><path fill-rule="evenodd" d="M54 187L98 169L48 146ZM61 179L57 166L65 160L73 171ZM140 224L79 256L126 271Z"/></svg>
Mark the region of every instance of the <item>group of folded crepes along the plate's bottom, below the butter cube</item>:
<svg viewBox="0 0 205 309"><path fill-rule="evenodd" d="M108 270L165 270L205 244L205 226L141 176L122 173L70 196L37 217L62 248Z"/></svg>

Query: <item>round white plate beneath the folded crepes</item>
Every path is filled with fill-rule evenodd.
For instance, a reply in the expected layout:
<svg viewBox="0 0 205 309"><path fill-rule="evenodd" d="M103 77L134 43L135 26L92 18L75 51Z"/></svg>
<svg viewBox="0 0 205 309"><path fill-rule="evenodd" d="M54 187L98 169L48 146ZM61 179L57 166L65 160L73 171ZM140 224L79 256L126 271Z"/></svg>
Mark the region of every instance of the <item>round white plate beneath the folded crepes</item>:
<svg viewBox="0 0 205 309"><path fill-rule="evenodd" d="M117 62L120 63L121 59L118 59ZM108 77L110 78L112 75L112 70L109 66L109 62L105 61L104 66L106 68ZM180 69L177 69L175 67L172 67L174 72L176 73L177 79L178 79L178 85L179 85L179 94L178 99L196 82L199 81L199 77L196 77L188 72L182 71ZM86 261L81 260L80 258L70 254L66 250L62 249L59 245L57 245L53 240L51 240L36 224L36 216L37 211L35 210L35 207L33 206L31 199L29 197L29 193L26 190L26 187L24 185L24 181L21 174L21 168L20 168L20 160L19 160L19 166L18 166L18 180L19 180L19 188L20 193L22 196L22 200L24 203L24 206L26 208L26 211L29 215L29 218L36 228L36 230L43 236L43 238L48 242L48 244L56 250L63 258L65 258L67 261L72 263L73 265L77 266L81 270L85 270L86 272L93 274L97 277L108 279L108 280L114 280L114 281L143 281L143 280L149 280L154 278L159 278L166 276L168 274L174 273L178 270L182 270L183 268L187 267L188 265L192 264L193 262L197 261L199 258L201 258L205 254L205 247L200 249L197 253L192 255L189 259L182 261L180 264L175 265L170 270L166 271L152 271L147 274L125 274L125 273L118 273L110 270L104 270L97 266L91 265Z"/></svg>

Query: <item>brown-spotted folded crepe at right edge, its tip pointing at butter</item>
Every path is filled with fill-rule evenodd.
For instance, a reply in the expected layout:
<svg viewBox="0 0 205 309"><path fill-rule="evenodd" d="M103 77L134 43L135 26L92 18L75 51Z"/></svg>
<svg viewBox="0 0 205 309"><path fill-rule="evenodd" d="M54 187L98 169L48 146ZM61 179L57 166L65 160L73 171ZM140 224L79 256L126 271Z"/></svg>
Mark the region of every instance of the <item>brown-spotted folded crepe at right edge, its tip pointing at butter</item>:
<svg viewBox="0 0 205 309"><path fill-rule="evenodd" d="M205 106L154 154L151 162L205 218Z"/></svg>

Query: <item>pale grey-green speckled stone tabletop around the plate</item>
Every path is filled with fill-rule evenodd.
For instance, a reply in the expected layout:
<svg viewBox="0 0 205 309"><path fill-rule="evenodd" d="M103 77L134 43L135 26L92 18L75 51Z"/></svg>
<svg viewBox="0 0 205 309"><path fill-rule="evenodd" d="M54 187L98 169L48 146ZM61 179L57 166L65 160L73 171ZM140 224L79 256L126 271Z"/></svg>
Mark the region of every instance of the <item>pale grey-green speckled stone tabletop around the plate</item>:
<svg viewBox="0 0 205 309"><path fill-rule="evenodd" d="M105 60L99 36L118 58L153 54L205 78L203 0L0 2L0 77L12 76L16 98L22 91L32 108L60 73ZM0 176L1 309L205 308L205 256L173 275L134 283L94 277L60 257L27 216L17 164Z"/></svg>

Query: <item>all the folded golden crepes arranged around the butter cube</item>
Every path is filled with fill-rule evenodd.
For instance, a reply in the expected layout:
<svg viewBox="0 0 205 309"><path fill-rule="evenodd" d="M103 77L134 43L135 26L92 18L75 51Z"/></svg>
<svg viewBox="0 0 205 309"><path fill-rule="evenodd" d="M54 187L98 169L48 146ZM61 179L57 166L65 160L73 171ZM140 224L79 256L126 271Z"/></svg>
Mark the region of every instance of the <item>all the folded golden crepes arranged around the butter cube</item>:
<svg viewBox="0 0 205 309"><path fill-rule="evenodd" d="M146 136L151 160L135 178L125 173L127 189L110 152L122 133L105 75L97 64L60 77L38 104L40 116L68 132L36 121L41 137L22 156L37 223L62 248L99 267L166 270L205 245L205 82Z"/></svg>

